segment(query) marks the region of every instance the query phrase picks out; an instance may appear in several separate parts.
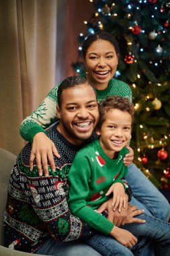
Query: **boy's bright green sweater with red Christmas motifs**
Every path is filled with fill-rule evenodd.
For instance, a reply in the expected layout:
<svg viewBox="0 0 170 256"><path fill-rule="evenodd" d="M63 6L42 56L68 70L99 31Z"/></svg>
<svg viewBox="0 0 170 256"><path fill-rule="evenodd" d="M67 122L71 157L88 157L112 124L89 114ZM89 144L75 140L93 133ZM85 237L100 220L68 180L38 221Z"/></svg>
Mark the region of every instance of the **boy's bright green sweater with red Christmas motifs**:
<svg viewBox="0 0 170 256"><path fill-rule="evenodd" d="M123 148L118 158L111 159L103 152L99 140L95 139L77 152L69 171L71 212L104 234L110 234L114 224L94 210L108 200L105 193L113 183L120 182L126 188L122 177L128 170L123 163L127 152Z"/></svg>

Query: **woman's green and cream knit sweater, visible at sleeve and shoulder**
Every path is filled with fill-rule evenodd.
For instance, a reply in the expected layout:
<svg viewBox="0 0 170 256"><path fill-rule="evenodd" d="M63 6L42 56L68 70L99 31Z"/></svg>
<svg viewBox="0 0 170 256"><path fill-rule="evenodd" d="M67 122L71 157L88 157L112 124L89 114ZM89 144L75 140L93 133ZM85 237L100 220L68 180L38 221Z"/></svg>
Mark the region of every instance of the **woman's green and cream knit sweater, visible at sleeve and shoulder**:
<svg viewBox="0 0 170 256"><path fill-rule="evenodd" d="M42 101L40 106L22 122L20 134L26 141L32 142L36 133L44 132L44 129L50 127L57 120L56 99L60 83L48 93L48 96ZM114 78L110 79L108 88L96 91L97 100L99 101L104 100L107 96L119 95L128 98L132 102L132 91L128 84Z"/></svg>

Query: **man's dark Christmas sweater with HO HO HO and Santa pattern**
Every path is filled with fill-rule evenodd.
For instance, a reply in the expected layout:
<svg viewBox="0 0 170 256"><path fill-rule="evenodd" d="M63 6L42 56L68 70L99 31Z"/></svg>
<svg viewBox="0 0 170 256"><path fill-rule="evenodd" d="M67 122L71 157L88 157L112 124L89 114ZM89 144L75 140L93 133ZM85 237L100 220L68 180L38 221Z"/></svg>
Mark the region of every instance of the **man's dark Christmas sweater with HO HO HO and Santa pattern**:
<svg viewBox="0 0 170 256"><path fill-rule="evenodd" d="M80 149L69 143L53 125L46 135L54 142L61 158L49 177L39 177L36 160L30 171L31 144L20 152L9 180L5 210L5 246L34 253L51 236L56 241L72 241L91 234L91 228L71 214L67 199L67 177L75 153Z"/></svg>

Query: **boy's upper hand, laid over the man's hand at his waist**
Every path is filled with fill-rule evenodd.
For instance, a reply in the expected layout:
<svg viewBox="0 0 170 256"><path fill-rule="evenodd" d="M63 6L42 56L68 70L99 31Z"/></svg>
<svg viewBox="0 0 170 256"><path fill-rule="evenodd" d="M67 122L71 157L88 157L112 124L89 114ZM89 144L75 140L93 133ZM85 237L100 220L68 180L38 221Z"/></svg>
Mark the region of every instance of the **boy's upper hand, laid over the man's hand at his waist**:
<svg viewBox="0 0 170 256"><path fill-rule="evenodd" d="M126 207L126 197L124 192L124 185L122 183L114 183L105 195L110 195L113 193L114 212L118 207L118 212L121 212L122 207Z"/></svg>

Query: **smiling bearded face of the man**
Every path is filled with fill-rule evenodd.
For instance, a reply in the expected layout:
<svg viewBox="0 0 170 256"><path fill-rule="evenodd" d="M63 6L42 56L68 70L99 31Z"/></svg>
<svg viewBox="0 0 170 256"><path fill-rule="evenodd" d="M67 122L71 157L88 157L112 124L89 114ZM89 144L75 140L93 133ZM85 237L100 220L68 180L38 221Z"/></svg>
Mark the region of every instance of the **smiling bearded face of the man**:
<svg viewBox="0 0 170 256"><path fill-rule="evenodd" d="M64 90L61 108L57 106L56 110L60 118L58 131L75 145L89 139L99 121L96 95L87 84Z"/></svg>

